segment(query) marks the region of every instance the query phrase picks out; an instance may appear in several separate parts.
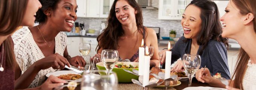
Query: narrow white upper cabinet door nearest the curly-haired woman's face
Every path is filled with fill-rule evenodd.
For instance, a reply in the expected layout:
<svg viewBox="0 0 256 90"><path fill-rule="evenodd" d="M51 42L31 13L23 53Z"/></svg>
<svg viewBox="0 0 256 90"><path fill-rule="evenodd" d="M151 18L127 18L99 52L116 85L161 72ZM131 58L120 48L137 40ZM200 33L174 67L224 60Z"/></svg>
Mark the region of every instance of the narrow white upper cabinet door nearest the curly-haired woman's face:
<svg viewBox="0 0 256 90"><path fill-rule="evenodd" d="M77 17L86 17L86 0L76 0L78 6L76 16Z"/></svg>

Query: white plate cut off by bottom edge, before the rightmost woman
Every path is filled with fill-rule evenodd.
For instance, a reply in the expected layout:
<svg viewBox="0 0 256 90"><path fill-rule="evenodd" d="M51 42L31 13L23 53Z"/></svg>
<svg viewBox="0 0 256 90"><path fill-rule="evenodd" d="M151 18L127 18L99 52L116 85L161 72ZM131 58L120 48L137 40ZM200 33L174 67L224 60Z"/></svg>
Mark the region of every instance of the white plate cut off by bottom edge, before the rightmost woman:
<svg viewBox="0 0 256 90"><path fill-rule="evenodd" d="M227 89L217 88L217 87L203 87L203 86L200 86L200 87L186 87L183 90L227 90Z"/></svg>

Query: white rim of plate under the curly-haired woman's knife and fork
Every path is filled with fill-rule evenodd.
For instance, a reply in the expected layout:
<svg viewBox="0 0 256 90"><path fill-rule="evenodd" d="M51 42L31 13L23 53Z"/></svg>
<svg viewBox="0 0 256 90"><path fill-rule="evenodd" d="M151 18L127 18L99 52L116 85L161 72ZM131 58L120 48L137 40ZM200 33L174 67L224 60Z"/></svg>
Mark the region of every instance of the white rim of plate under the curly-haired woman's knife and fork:
<svg viewBox="0 0 256 90"><path fill-rule="evenodd" d="M46 77L49 77L50 75L58 77L59 75L66 75L66 74L77 74L74 71L55 71L55 72L50 72L46 74ZM73 81L73 80L65 80L65 81Z"/></svg>

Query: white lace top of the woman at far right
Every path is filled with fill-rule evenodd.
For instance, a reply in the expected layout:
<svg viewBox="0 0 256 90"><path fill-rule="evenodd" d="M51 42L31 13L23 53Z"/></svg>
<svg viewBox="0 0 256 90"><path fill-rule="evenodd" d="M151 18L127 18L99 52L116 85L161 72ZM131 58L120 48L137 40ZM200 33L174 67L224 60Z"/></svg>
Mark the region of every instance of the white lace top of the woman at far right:
<svg viewBox="0 0 256 90"><path fill-rule="evenodd" d="M248 61L247 70L242 81L244 90L256 89L256 64L251 64L251 60Z"/></svg>

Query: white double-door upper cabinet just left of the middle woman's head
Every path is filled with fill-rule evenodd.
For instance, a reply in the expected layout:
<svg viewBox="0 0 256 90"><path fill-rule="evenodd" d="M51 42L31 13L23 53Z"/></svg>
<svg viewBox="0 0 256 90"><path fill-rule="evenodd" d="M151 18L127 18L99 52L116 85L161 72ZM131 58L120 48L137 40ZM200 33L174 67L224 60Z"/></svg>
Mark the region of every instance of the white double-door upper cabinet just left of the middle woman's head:
<svg viewBox="0 0 256 90"><path fill-rule="evenodd" d="M107 18L114 0L87 0L86 17Z"/></svg>

